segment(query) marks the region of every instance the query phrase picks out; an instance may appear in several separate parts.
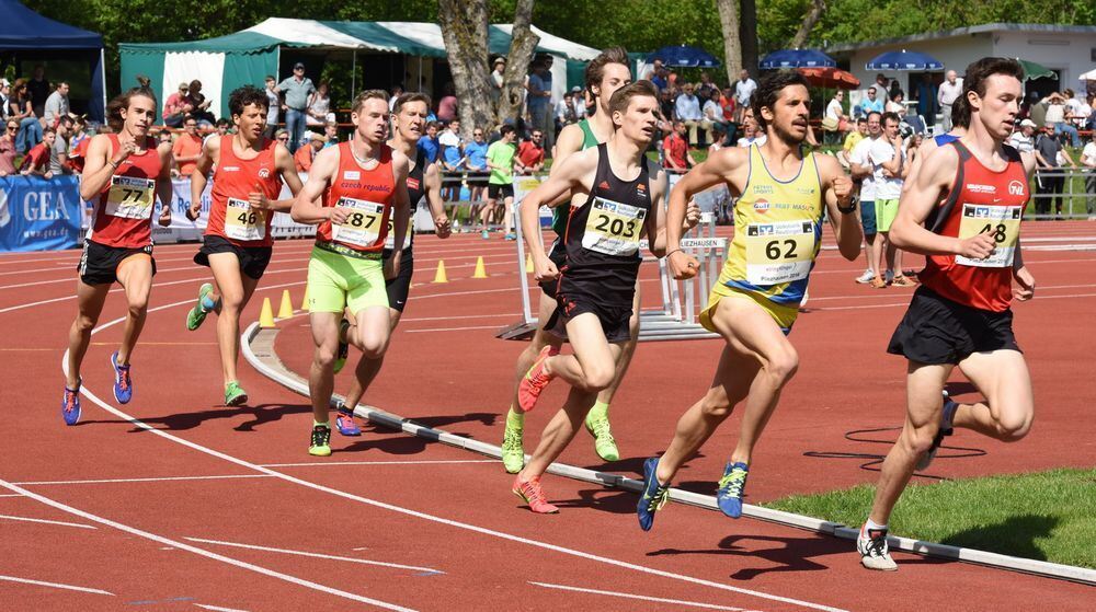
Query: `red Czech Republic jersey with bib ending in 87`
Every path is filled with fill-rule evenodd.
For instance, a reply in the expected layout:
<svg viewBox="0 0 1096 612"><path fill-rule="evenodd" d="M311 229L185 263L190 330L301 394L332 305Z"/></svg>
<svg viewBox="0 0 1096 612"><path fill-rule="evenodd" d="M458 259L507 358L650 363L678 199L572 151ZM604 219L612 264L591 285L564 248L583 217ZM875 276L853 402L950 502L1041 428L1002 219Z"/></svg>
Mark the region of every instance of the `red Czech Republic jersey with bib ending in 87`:
<svg viewBox="0 0 1096 612"><path fill-rule="evenodd" d="M362 253L379 253L388 235L392 215L396 177L392 174L392 149L380 145L378 163L363 169L350 142L339 145L339 170L323 193L323 206L350 208L352 212L341 226L323 221L316 228L319 242L333 242Z"/></svg>

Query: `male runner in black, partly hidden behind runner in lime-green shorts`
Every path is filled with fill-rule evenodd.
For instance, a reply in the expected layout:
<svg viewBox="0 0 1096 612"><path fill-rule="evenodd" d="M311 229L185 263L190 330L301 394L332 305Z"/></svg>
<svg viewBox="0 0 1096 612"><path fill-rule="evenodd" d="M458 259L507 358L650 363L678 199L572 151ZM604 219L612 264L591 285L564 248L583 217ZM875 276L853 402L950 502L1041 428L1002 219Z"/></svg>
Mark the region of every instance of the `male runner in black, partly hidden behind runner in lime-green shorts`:
<svg viewBox="0 0 1096 612"><path fill-rule="evenodd" d="M418 148L419 139L422 137L426 126L426 116L430 115L430 97L422 93L404 93L396 99L392 106L392 124L395 134L388 141L388 146L393 151L399 151L413 159L411 171L408 173L407 186L410 198L410 212L419 206L419 201L426 197L430 212L434 217L434 233L437 238L449 238L452 228L449 218L445 213L445 203L442 200L442 173L436 163L426 161L426 154ZM390 221L395 226L393 222ZM411 231L411 222L408 221L407 236L404 239L403 253L400 257L400 272L396 278L385 281L385 290L388 292L388 315L391 322L391 331L396 331L400 316L407 307L408 295L411 291L411 274L414 272L414 258L411 250L414 242L414 232ZM396 245L396 232L389 228L388 238L385 239L384 259L392 257L392 249ZM380 367L385 362L384 355L376 358L367 358L364 355L357 362L354 371L354 383L346 400L338 406L339 415L335 417L335 427L343 436L361 436L362 429L354 422L354 407L373 379L377 378Z"/></svg>

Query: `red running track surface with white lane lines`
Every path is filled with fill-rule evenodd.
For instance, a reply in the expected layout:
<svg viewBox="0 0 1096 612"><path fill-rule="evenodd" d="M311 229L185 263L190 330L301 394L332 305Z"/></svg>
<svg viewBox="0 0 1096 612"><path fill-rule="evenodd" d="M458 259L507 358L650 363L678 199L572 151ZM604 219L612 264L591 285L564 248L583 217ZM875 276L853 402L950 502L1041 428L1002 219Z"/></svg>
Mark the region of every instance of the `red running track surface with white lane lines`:
<svg viewBox="0 0 1096 612"><path fill-rule="evenodd" d="M1087 466L1096 457L1094 426L1076 418L1096 391L1086 358L1096 252L1083 250L1096 244L1096 228L1027 228L1040 289L1016 307L1016 330L1036 381L1036 427L1007 447L960 435L956 444L987 454L943 453L934 475ZM1074 246L1035 250L1062 245ZM276 245L246 321L258 317L262 297L277 305L283 288L299 303L308 249ZM0 353L10 365L0 374L3 609L1029 610L1077 609L1092 598L1080 585L915 555L895 555L897 574L869 573L846 541L685 506L669 506L644 534L633 495L558 477L546 488L563 512L534 516L496 462L387 430L335 435L336 452L317 460L306 453L307 401L246 365L253 407L219 405L214 326L187 333L183 325L207 277L190 262L195 250L157 249L160 274L126 406L110 391L106 360L124 312L119 292L112 295L84 368L84 389L102 404L85 396L83 423L72 428L57 411L79 253L0 256ZM496 443L523 348L493 337L520 312L513 245L427 236L416 255L406 319L366 401ZM489 279L469 278L477 255ZM448 285L429 284L439 257ZM884 452L886 444L843 435L901 423L903 367L882 347L909 290L854 285L859 270L832 251L822 256L811 311L792 335L802 366L758 449L752 501L875 480L859 469L864 460L803 455ZM653 305L655 286L644 286ZM283 322L278 337L297 371L309 359L306 325L302 316ZM613 408L626 459L605 469L635 474L665 446L719 349L712 340L640 346ZM341 376L340 391L347 383ZM562 389L550 388L528 430L561 401ZM710 490L734 429L724 425L678 484ZM603 466L584 434L562 460ZM959 600L941 587L959 584L977 587Z"/></svg>

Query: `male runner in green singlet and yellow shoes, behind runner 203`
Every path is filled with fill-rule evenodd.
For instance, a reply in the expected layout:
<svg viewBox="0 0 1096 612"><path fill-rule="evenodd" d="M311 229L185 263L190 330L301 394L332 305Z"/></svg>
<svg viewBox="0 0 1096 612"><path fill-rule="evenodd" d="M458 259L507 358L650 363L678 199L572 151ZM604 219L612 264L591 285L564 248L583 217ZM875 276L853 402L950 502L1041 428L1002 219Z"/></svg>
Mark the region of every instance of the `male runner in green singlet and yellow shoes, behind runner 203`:
<svg viewBox="0 0 1096 612"><path fill-rule="evenodd" d="M594 112L576 124L571 124L559 132L556 142L556 158L552 160L552 174L562 166L563 162L573 153L596 147L605 142L613 136L613 117L609 116L609 100L616 91L631 82L631 72L628 70L628 54L620 47L605 49L586 66L586 92L595 101ZM559 269L563 266L564 249L562 245L563 233L567 229L567 220L570 215L569 206L559 206L568 203L570 198L560 198L557 206L552 208L552 231L557 239L548 249L552 264ZM526 208L526 210L530 210ZM540 235L540 229L536 230ZM529 240L529 236L526 236ZM537 314L540 323L533 334L533 339L525 350L517 357L517 365L514 371L514 400L511 402L510 411L506 413L506 427L502 438L502 463L506 472L516 474L525 464L525 449L522 438L525 427L525 411L517 402L517 386L525 378L525 374L533 367L537 355L545 346L553 346L557 349L562 340L547 333L544 330L544 322L548 321L556 310L556 282L547 281L540 284L543 293ZM636 342L639 338L639 282L636 282L636 297L632 301L632 317L629 322L628 340L620 345L620 358L617 360L616 374L613 382L597 394L593 406L590 407L585 427L594 436L594 451L604 461L616 461L620 458L616 440L609 429L609 403L616 393L624 373L628 370L631 356L636 353Z"/></svg>

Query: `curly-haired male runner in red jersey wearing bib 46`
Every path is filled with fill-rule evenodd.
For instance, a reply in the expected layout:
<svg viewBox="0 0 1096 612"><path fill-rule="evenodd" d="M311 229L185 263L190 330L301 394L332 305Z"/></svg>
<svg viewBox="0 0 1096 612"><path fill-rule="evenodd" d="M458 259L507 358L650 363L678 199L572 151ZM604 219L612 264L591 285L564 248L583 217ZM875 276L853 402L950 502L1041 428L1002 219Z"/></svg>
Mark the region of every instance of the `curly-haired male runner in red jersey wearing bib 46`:
<svg viewBox="0 0 1096 612"><path fill-rule="evenodd" d="M274 211L288 212L293 207L293 198L277 199L282 181L294 196L300 192L300 177L289 150L263 136L266 104L266 94L250 85L229 94L228 108L236 134L206 140L191 174L187 217L194 220L202 212L206 176L216 168L205 242L194 255L194 263L209 267L214 281L198 289L197 303L186 313L186 328L197 330L209 312L217 312L217 345L227 406L248 401L236 373L240 312L270 264Z"/></svg>

